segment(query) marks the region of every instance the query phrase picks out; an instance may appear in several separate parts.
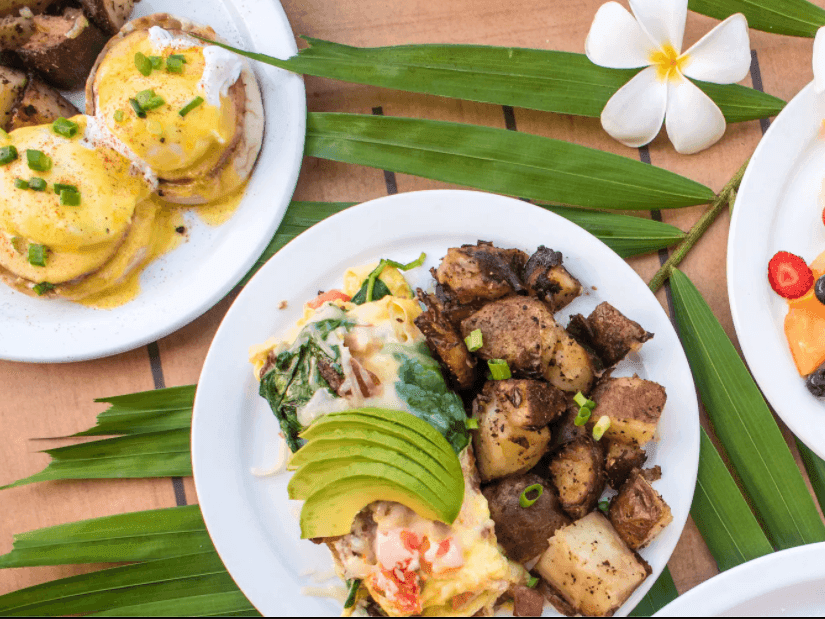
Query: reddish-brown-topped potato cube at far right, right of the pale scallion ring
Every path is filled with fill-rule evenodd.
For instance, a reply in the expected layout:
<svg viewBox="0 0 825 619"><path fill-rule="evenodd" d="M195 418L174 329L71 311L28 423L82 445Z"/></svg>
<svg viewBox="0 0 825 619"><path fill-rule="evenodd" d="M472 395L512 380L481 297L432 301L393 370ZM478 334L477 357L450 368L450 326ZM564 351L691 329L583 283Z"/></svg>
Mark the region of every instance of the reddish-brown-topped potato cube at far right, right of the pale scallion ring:
<svg viewBox="0 0 825 619"><path fill-rule="evenodd" d="M633 376L600 380L590 399L596 408L589 427L606 415L610 417L608 439L642 446L656 433L667 394L660 384Z"/></svg>

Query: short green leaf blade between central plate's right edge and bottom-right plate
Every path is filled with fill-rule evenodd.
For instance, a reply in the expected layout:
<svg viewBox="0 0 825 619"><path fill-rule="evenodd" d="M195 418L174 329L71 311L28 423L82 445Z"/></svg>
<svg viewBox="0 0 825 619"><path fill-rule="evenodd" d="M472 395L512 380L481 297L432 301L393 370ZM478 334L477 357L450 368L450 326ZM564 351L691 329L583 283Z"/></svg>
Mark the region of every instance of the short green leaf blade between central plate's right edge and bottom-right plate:
<svg viewBox="0 0 825 619"><path fill-rule="evenodd" d="M704 429L690 515L721 571L773 552Z"/></svg>

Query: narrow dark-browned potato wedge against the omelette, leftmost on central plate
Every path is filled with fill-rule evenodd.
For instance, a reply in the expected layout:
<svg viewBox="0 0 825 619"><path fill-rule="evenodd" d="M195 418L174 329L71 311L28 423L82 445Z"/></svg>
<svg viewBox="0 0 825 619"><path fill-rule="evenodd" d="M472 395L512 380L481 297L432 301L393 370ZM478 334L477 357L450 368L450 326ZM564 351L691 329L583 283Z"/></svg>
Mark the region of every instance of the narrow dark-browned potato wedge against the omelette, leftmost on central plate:
<svg viewBox="0 0 825 619"><path fill-rule="evenodd" d="M444 317L441 306L434 295L418 289L418 299L427 310L415 319L415 325L427 338L427 346L433 356L440 360L447 369L447 375L453 379L459 389L469 389L475 382L475 357L467 350L464 338Z"/></svg>

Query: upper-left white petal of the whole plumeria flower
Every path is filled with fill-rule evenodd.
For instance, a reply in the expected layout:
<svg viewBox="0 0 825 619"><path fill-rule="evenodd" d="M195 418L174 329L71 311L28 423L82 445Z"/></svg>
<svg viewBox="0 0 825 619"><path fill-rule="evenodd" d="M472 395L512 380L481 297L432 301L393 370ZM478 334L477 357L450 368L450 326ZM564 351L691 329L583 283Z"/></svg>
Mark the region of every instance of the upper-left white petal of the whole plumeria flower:
<svg viewBox="0 0 825 619"><path fill-rule="evenodd" d="M590 62L610 69L646 67L656 49L639 23L618 2L599 7L584 43Z"/></svg>

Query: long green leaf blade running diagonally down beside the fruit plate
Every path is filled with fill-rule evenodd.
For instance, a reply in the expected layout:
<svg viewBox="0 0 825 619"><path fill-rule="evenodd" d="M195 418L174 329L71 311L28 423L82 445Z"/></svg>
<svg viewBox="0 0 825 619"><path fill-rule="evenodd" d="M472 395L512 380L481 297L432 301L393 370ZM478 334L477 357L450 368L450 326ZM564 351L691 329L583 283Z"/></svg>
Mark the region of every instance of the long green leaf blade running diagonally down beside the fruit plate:
<svg viewBox="0 0 825 619"><path fill-rule="evenodd" d="M780 549L825 541L825 524L745 364L687 276L674 269L670 282L705 410L768 538Z"/></svg>

